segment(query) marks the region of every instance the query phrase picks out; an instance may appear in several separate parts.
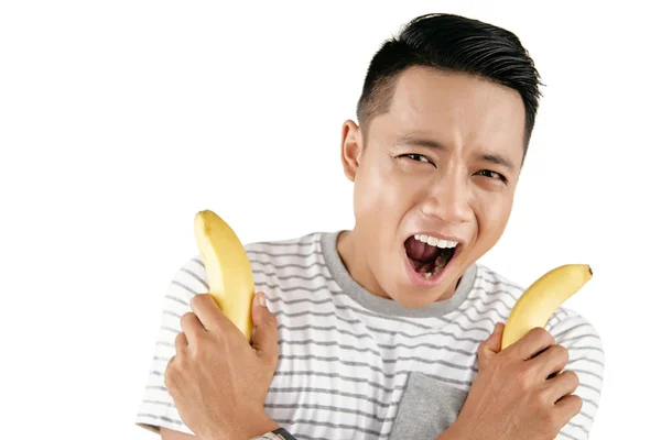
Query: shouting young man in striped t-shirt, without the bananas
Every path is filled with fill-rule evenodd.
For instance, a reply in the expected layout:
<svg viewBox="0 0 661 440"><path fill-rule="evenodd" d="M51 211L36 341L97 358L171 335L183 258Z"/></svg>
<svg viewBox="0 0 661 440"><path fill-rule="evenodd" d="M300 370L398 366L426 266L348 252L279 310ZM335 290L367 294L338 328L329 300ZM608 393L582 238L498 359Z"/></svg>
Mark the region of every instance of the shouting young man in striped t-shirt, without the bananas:
<svg viewBox="0 0 661 440"><path fill-rule="evenodd" d="M501 351L522 288L476 263L508 222L538 84L517 36L475 20L421 16L384 43L343 127L354 229L246 246L252 345L201 258L182 267L137 422L171 440L587 439L597 332L561 308Z"/></svg>

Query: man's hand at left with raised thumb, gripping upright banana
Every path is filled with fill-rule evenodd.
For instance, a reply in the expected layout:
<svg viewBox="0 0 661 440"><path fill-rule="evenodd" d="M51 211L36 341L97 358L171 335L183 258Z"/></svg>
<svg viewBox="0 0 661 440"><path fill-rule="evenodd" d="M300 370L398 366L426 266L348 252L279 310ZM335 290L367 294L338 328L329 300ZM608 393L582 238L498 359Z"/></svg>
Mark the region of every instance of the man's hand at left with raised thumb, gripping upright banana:
<svg viewBox="0 0 661 440"><path fill-rule="evenodd" d="M278 428L263 408L278 363L278 326L264 295L252 300L252 346L208 294L194 296L191 308L165 370L184 424L204 440L247 440Z"/></svg>

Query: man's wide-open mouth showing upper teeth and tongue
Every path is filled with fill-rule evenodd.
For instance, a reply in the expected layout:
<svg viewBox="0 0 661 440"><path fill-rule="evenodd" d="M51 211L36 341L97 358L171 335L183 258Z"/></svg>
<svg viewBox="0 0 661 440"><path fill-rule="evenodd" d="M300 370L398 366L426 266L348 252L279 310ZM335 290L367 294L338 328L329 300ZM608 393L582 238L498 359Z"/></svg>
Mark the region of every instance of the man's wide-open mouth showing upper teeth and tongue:
<svg viewBox="0 0 661 440"><path fill-rule="evenodd" d="M458 243L434 237L416 234L404 242L407 256L413 270L430 279L438 275L455 255Z"/></svg>

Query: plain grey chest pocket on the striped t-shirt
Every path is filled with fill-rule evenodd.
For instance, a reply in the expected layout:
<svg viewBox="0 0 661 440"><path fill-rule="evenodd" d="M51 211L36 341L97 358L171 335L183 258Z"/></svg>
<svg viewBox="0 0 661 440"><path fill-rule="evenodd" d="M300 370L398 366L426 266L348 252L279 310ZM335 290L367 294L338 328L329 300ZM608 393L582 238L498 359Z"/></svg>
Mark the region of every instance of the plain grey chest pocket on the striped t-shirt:
<svg viewBox="0 0 661 440"><path fill-rule="evenodd" d="M468 392L412 372L390 440L434 440L457 418Z"/></svg>

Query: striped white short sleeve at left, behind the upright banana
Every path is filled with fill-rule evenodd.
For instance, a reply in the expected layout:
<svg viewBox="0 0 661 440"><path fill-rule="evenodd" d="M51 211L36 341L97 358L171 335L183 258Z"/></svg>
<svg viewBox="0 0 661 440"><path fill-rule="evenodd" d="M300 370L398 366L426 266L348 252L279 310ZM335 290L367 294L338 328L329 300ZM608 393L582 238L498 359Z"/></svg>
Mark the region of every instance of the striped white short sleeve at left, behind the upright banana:
<svg viewBox="0 0 661 440"><path fill-rule="evenodd" d="M160 428L164 427L193 435L193 431L182 421L165 388L163 373L167 362L175 354L174 339L182 331L181 317L191 311L191 298L206 292L208 292L206 272L199 257L192 258L181 267L167 286L161 327L136 418L136 424L142 428L159 432Z"/></svg>

